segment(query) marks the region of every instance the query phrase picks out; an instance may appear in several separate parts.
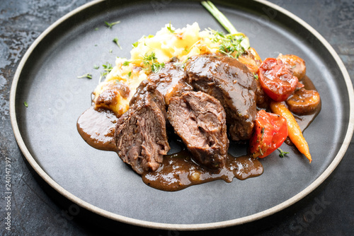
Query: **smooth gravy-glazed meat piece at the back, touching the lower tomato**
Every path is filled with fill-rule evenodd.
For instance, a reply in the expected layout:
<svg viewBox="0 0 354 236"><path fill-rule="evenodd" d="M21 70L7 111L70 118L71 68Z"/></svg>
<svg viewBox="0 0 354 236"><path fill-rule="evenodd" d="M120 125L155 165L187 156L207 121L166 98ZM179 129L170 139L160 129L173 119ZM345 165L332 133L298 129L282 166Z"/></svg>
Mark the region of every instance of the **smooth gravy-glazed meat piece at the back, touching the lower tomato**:
<svg viewBox="0 0 354 236"><path fill-rule="evenodd" d="M249 139L256 119L256 81L249 69L231 57L202 54L187 61L185 73L195 90L221 102L232 140Z"/></svg>

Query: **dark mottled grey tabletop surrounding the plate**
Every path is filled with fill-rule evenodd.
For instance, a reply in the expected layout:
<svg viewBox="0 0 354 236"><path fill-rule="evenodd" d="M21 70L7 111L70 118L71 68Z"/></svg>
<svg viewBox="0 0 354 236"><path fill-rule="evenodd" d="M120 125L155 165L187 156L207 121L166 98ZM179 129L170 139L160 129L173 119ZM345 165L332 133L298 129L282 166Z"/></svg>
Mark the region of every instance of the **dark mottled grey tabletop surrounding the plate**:
<svg viewBox="0 0 354 236"><path fill-rule="evenodd" d="M31 174L11 129L8 102L11 81L35 38L55 20L86 2L88 0L0 0L1 235L354 235L353 141L336 170L309 196L273 216L216 231L149 230L113 223L83 210L77 212L71 203ZM353 0L271 2L295 13L323 35L343 60L353 81ZM5 229L5 157L11 158L11 232Z"/></svg>

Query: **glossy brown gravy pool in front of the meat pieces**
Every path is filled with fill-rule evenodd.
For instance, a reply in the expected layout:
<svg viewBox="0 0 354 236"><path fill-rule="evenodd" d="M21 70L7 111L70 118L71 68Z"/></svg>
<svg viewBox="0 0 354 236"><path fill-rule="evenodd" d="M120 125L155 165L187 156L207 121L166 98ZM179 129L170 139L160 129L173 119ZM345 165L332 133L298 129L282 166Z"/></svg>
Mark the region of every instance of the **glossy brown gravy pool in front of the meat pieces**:
<svg viewBox="0 0 354 236"><path fill-rule="evenodd" d="M191 185L211 182L222 179L232 182L232 179L247 179L257 177L263 173L263 165L259 160L250 156L235 158L227 156L227 163L218 172L212 172L196 164L192 155L186 151L180 151L172 155L165 155L164 161L154 172L144 172L142 181L155 189L164 191L178 191Z"/></svg>

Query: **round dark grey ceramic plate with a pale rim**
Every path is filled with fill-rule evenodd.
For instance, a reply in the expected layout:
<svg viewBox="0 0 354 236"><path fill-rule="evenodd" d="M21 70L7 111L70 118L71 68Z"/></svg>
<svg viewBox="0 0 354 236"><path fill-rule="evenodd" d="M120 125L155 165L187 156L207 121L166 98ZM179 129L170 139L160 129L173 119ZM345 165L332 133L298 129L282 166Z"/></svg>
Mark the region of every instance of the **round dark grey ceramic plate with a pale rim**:
<svg viewBox="0 0 354 236"><path fill-rule="evenodd" d="M280 211L321 184L343 157L353 134L353 86L336 52L302 20L266 1L217 1L261 58L296 54L319 90L322 110L304 132L308 163L284 144L261 160L260 177L222 180L167 192L148 187L113 152L91 148L76 120L91 105L101 69L130 57L132 42L166 23L222 30L198 1L93 1L59 19L28 49L11 89L11 122L25 158L52 188L106 218L164 229L207 229L246 223ZM107 28L104 21L118 25ZM115 45L118 37L122 50ZM110 52L112 50L112 52ZM93 78L77 78L92 73ZM27 102L28 107L23 105ZM237 147L231 150L237 152Z"/></svg>

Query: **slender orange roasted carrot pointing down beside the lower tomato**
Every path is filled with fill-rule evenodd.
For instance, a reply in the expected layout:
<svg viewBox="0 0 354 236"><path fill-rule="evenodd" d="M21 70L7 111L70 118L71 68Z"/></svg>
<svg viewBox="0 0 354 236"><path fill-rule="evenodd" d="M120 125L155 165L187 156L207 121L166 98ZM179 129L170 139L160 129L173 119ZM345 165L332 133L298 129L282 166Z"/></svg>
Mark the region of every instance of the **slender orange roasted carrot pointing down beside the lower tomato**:
<svg viewBox="0 0 354 236"><path fill-rule="evenodd" d="M295 144L300 153L304 154L309 163L311 163L312 158L309 153L309 145L302 135L302 131L297 124L295 117L292 115L290 110L287 109L284 102L270 102L270 110L275 114L280 114L287 120L287 135L289 136L292 143Z"/></svg>

